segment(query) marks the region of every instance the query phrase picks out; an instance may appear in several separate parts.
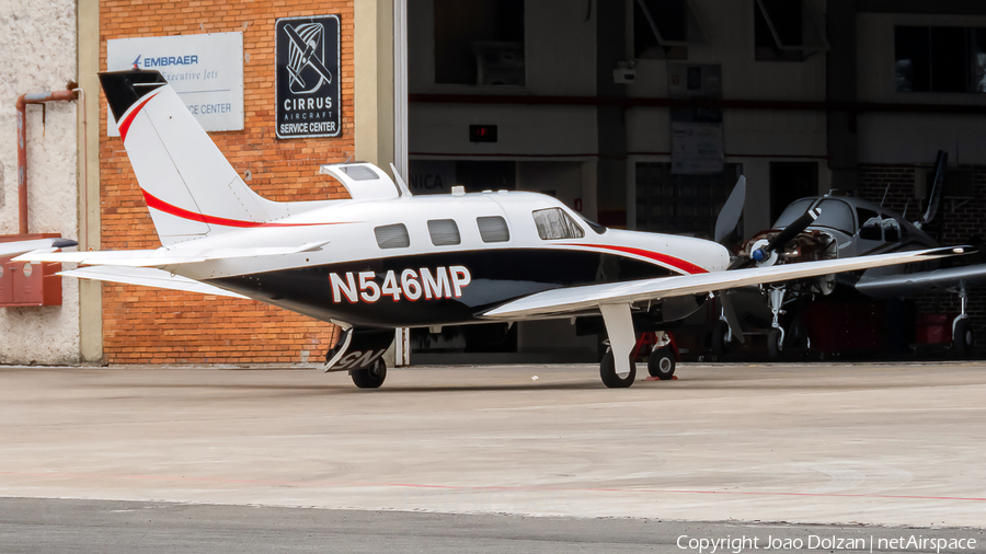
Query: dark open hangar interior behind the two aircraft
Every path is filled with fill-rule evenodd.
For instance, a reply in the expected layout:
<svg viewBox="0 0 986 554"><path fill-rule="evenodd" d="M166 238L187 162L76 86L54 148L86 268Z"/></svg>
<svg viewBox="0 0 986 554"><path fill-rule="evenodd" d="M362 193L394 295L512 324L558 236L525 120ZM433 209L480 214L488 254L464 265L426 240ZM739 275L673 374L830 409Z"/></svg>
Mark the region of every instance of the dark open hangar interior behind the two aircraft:
<svg viewBox="0 0 986 554"><path fill-rule="evenodd" d="M928 10L940 12L936 24L954 23L967 11L960 4L408 0L409 181L415 194L539 191L610 227L711 238L743 174L734 241L768 229L794 197L833 189L898 211L909 199L914 213L952 130L964 152L956 165L979 175L986 164L966 124L935 115L976 119L981 109L964 105L977 99L893 89L894 30ZM933 131L915 135L916 122ZM982 212L967 213L984 201L983 183L971 183L945 200L942 243L974 239L970 219L984 226ZM982 336L979 297L970 313ZM951 313L958 300L936 292L914 303ZM414 363L598 356L598 338L576 336L569 321L438 331L412 332ZM699 337L689 348L707 346Z"/></svg>

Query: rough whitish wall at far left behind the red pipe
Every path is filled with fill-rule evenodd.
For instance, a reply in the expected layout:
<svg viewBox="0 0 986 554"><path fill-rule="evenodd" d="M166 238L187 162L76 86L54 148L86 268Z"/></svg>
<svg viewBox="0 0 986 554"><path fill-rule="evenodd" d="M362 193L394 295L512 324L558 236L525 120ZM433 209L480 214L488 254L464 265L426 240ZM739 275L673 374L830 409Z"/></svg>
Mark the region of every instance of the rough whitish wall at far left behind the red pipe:
<svg viewBox="0 0 986 554"><path fill-rule="evenodd" d="M76 2L0 2L0 234L18 232L18 96L65 90L77 79ZM27 106L28 231L77 238L76 104ZM62 281L62 305L0 308L0 363L79 360L79 285Z"/></svg>

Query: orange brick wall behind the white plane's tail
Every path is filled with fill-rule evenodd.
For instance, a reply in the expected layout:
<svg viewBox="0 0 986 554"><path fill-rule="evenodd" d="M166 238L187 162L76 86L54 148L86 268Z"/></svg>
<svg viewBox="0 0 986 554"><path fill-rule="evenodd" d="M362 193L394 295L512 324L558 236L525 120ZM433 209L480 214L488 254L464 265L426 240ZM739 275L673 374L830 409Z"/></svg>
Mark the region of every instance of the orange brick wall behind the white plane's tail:
<svg viewBox="0 0 986 554"><path fill-rule="evenodd" d="M274 21L337 14L341 20L342 134L278 140L274 132ZM243 32L244 130L211 132L219 150L248 184L278 201L345 195L318 175L319 164L353 154L353 0L222 2L183 0L100 2L101 67L106 41L144 36ZM150 215L118 137L106 137L105 97L100 124L102 247L160 246ZM103 285L103 353L110 363L307 362L324 358L337 330L278 308L144 287Z"/></svg>

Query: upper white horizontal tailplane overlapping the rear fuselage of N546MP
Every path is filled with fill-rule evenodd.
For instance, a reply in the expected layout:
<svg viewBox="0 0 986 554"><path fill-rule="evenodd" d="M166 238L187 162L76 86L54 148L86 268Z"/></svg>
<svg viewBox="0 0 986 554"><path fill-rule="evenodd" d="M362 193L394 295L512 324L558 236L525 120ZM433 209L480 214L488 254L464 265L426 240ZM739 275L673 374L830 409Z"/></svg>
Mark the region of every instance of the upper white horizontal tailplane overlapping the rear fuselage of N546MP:
<svg viewBox="0 0 986 554"><path fill-rule="evenodd" d="M115 265L127 267L163 267L167 265L196 264L210 259L262 257L298 254L321 249L329 241L310 242L290 247L256 249L158 249L119 250L99 252L53 252L51 249L28 252L14 262L65 262L88 265Z"/></svg>

